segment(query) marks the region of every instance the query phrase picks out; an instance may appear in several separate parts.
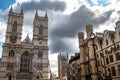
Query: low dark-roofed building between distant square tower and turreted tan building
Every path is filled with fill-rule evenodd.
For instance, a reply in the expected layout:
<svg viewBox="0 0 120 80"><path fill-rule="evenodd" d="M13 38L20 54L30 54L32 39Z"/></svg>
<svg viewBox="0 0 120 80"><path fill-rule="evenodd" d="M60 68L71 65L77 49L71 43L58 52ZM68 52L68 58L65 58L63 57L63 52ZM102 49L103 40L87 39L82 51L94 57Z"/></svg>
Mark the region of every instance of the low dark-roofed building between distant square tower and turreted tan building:
<svg viewBox="0 0 120 80"><path fill-rule="evenodd" d="M75 56L71 56L71 58L69 59L67 67L67 80L80 80L80 71L80 54L75 53Z"/></svg>

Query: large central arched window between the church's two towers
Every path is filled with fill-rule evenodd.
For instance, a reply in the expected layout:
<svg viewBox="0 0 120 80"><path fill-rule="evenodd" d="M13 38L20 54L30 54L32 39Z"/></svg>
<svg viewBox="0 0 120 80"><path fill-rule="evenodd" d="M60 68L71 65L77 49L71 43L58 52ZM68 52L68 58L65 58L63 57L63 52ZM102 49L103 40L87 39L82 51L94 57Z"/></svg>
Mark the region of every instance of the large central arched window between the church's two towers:
<svg viewBox="0 0 120 80"><path fill-rule="evenodd" d="M30 67L30 56L28 52L25 52L21 56L20 72L29 72L29 67Z"/></svg>

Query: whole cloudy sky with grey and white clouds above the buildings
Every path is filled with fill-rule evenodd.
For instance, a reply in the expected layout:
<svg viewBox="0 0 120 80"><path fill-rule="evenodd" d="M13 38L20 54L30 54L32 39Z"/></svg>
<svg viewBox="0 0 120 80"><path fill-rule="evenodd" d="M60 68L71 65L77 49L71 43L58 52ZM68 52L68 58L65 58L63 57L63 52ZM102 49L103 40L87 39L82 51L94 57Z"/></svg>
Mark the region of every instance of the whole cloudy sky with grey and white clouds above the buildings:
<svg viewBox="0 0 120 80"><path fill-rule="evenodd" d="M85 26L92 24L94 32L114 30L120 19L120 0L1 0L0 1L0 53L5 40L7 15L10 6L14 12L24 8L22 40L27 33L32 39L35 10L39 16L48 12L49 59L52 72L57 72L57 55L60 52L79 52L78 32L85 32ZM53 58L54 57L54 58Z"/></svg>

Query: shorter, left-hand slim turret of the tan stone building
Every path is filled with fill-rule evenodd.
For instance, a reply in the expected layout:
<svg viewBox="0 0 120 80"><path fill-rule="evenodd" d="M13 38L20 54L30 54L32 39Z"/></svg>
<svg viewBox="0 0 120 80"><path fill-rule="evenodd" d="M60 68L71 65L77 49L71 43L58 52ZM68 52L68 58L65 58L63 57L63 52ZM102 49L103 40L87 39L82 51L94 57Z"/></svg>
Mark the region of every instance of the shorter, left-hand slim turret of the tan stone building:
<svg viewBox="0 0 120 80"><path fill-rule="evenodd" d="M85 75L86 75L86 69L85 69L85 53L84 53L84 33L78 33L78 38L79 38L79 49L80 49L80 64L81 64L81 80L86 80Z"/></svg>

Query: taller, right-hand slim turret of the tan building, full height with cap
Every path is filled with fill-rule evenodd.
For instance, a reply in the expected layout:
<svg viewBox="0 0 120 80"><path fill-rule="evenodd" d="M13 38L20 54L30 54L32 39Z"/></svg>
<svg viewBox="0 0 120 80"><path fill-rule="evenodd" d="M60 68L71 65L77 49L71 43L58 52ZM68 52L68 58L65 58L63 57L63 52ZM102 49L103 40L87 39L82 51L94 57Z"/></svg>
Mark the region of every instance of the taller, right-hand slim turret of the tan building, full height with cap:
<svg viewBox="0 0 120 80"><path fill-rule="evenodd" d="M96 53L95 53L95 43L94 38L91 36L93 35L93 28L92 25L86 26L86 32L87 32L87 47L89 49L88 52L88 68L91 70L91 79L92 80L98 80L98 72L97 72L97 66L96 66Z"/></svg>

